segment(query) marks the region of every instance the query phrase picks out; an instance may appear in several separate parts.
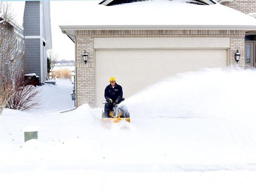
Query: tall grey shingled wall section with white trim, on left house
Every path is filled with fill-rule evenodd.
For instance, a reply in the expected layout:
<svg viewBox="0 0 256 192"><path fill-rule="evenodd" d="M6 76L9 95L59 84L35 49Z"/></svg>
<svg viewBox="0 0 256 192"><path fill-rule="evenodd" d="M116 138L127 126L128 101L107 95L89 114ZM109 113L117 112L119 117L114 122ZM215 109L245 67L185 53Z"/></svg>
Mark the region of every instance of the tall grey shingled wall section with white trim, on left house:
<svg viewBox="0 0 256 192"><path fill-rule="evenodd" d="M26 1L23 16L26 74L47 78L46 50L52 48L50 2Z"/></svg>

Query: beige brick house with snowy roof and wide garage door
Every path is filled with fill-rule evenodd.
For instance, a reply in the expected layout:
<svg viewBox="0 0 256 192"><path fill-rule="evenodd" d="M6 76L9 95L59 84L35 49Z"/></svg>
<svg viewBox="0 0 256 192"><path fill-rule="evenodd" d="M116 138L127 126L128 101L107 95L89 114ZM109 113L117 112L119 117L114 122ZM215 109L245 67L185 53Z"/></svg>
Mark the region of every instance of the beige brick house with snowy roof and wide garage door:
<svg viewBox="0 0 256 192"><path fill-rule="evenodd" d="M255 18L214 0L136 1L81 2L81 16L60 26L75 43L76 106L103 107L111 76L127 98L179 72L248 64L244 39Z"/></svg>

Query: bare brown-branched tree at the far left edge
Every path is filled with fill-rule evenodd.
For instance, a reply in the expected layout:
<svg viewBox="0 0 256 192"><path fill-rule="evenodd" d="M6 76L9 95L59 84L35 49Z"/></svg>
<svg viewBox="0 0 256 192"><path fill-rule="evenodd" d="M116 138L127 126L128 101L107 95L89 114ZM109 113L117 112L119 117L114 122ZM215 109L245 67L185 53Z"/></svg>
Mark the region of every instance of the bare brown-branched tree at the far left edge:
<svg viewBox="0 0 256 192"><path fill-rule="evenodd" d="M14 96L24 69L24 40L22 27L14 20L8 2L0 1L0 114Z"/></svg>

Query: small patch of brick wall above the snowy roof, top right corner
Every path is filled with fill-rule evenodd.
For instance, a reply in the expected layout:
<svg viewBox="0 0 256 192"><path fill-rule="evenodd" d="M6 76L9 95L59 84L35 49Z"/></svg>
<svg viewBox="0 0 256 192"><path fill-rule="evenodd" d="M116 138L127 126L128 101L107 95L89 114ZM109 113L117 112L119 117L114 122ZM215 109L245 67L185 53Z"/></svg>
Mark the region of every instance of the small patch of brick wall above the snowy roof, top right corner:
<svg viewBox="0 0 256 192"><path fill-rule="evenodd" d="M228 7L243 12L244 14L256 12L256 0L233 0L228 2Z"/></svg>

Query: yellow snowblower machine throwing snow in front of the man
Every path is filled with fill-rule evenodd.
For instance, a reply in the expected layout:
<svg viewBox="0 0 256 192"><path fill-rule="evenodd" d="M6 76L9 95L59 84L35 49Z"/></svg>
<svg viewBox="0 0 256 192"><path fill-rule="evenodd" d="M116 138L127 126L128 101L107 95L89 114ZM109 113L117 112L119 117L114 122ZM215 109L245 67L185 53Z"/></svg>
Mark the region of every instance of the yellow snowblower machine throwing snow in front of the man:
<svg viewBox="0 0 256 192"><path fill-rule="evenodd" d="M122 98L122 101L124 98ZM102 101L103 104L106 103L106 101ZM105 112L102 111L102 122L112 122L112 123L118 123L121 120L125 120L127 122L130 122L130 113L128 112L126 106L119 106L116 105L113 107L113 110L110 110L109 112L109 118L106 117Z"/></svg>

